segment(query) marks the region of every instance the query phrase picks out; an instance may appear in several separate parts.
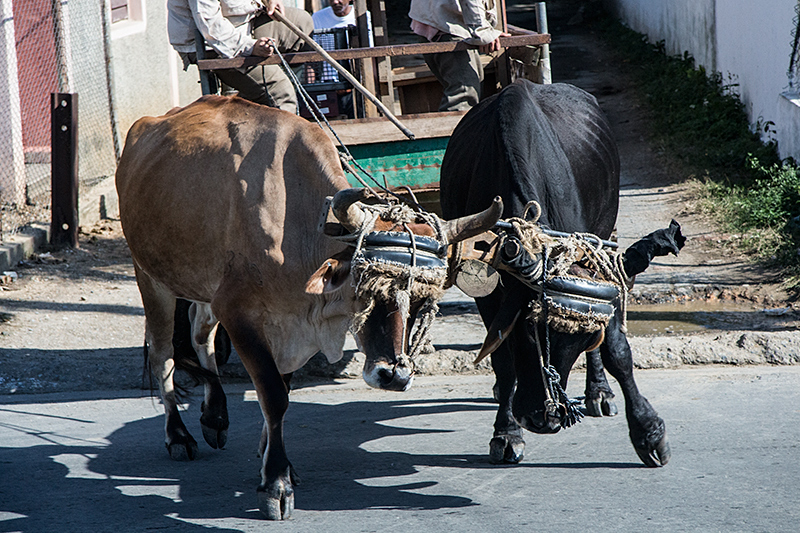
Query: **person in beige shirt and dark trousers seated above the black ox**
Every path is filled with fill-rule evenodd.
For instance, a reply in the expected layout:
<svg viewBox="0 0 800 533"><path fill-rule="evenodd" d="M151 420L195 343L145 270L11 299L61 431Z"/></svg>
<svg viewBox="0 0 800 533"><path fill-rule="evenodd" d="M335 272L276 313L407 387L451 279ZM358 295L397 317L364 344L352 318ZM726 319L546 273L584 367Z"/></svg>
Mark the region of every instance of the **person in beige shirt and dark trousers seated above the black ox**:
<svg viewBox="0 0 800 533"><path fill-rule="evenodd" d="M463 9L463 11L462 11ZM444 89L439 111L466 111L481 99L483 65L479 52L500 49L492 0L411 0L411 30L430 42L464 41L478 50L424 54L425 63Z"/></svg>

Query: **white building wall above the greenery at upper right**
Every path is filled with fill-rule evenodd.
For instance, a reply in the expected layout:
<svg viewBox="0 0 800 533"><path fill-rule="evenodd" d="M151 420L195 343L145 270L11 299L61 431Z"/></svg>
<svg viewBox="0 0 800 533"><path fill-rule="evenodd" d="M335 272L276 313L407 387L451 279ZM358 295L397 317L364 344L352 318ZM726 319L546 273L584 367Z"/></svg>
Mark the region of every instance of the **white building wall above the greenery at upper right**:
<svg viewBox="0 0 800 533"><path fill-rule="evenodd" d="M781 157L800 161L800 105L786 94L797 0L605 0L667 53L688 51L698 66L737 83L750 122L775 124Z"/></svg>

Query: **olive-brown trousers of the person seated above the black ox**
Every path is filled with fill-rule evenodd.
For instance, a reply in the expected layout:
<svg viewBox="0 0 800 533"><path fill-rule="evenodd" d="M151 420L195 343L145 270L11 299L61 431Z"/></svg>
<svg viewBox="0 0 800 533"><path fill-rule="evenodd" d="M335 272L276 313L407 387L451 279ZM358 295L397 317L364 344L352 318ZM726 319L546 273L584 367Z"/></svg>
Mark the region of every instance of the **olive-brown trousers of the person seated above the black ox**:
<svg viewBox="0 0 800 533"><path fill-rule="evenodd" d="M460 40L443 34L436 41ZM483 65L477 50L424 54L423 57L444 90L439 111L466 111L480 101Z"/></svg>

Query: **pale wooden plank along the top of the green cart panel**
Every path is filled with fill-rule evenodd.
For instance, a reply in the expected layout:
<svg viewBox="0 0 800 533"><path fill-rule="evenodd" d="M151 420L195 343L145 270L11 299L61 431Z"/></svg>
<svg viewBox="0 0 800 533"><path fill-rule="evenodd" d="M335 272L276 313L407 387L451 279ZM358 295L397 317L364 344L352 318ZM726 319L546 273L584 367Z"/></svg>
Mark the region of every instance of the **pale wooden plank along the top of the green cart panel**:
<svg viewBox="0 0 800 533"><path fill-rule="evenodd" d="M397 118L414 133L417 139L429 139L449 137L466 113L466 111L446 111L424 115L400 115ZM331 126L345 145L408 140L403 132L383 117L332 120ZM334 144L339 144L329 130L325 133Z"/></svg>

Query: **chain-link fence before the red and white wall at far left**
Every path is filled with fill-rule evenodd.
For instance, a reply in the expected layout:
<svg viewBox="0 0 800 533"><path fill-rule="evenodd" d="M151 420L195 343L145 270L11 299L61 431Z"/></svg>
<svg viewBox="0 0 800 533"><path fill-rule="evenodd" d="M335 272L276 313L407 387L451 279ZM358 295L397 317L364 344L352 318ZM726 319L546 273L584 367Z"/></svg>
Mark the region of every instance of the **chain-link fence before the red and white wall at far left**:
<svg viewBox="0 0 800 533"><path fill-rule="evenodd" d="M108 2L0 0L0 235L50 221L51 93L78 95L80 187L114 174Z"/></svg>

